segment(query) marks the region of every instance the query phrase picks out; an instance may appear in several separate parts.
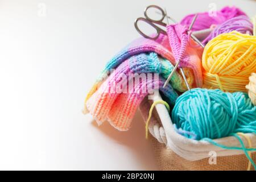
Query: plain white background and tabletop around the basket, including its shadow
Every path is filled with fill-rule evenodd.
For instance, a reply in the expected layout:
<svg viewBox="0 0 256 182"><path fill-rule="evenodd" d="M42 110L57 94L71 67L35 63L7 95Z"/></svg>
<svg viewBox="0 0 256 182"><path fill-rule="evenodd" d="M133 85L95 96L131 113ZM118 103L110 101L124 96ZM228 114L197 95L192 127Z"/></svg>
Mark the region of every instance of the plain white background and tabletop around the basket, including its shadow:
<svg viewBox="0 0 256 182"><path fill-rule="evenodd" d="M134 19L156 4L185 15L256 2L0 1L0 169L157 169L137 114L130 131L83 115L86 92L122 47ZM44 16L44 5L46 14Z"/></svg>

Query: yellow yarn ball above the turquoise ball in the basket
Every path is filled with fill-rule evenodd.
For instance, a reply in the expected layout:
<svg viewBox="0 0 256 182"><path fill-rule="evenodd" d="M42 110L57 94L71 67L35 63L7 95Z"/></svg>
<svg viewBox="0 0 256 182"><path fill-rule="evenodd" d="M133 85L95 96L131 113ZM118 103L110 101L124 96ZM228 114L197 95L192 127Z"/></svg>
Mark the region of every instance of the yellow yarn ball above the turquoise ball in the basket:
<svg viewBox="0 0 256 182"><path fill-rule="evenodd" d="M218 35L205 46L202 64L204 88L246 92L248 77L256 72L256 36Z"/></svg>

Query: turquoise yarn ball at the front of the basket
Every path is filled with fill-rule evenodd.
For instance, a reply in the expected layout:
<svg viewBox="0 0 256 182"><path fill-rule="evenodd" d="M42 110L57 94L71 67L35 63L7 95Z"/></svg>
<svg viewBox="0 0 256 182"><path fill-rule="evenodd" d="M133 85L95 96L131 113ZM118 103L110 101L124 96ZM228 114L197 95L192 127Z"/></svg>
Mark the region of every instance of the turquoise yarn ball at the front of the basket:
<svg viewBox="0 0 256 182"><path fill-rule="evenodd" d="M246 93L196 88L177 98L172 122L178 133L197 140L256 133L256 107Z"/></svg>

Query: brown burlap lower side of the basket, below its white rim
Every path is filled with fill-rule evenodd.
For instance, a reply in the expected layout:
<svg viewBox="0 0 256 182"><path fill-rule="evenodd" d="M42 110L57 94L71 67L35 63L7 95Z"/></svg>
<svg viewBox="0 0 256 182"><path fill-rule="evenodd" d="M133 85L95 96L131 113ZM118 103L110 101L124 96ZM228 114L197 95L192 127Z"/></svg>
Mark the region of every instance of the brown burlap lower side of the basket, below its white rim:
<svg viewBox="0 0 256 182"><path fill-rule="evenodd" d="M152 147L155 152L155 158L157 159L160 170L200 170L200 171L241 171L246 170L248 166L248 159L245 155L233 155L233 156L217 156L216 164L209 164L209 159L201 159L196 161L189 161L181 156L175 154L170 148L167 148L165 144L159 143L154 137L150 137ZM256 160L256 153L252 155L253 161ZM253 170L253 167L251 167Z"/></svg>

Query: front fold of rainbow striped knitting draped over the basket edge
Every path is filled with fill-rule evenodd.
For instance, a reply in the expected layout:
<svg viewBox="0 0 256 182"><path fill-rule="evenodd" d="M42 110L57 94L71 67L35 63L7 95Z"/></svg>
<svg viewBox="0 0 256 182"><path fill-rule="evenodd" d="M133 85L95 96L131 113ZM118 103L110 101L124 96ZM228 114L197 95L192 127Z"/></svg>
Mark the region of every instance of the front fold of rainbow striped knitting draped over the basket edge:
<svg viewBox="0 0 256 182"><path fill-rule="evenodd" d="M139 104L150 93L148 88L160 89L160 92L166 96L168 104L174 106L178 97L177 93L171 85L162 88L164 78L168 77L173 68L170 61L159 59L155 52L131 56L123 61L92 94L92 97L86 102L86 108L99 125L104 121L109 121L118 130L128 130ZM190 70L186 72L190 79L188 80L191 83L190 86L192 86L193 73ZM130 73L159 73L160 76L150 79L146 75L146 80L135 82L135 85L129 88L127 84L130 80L124 80L123 76L128 77ZM180 92L184 92L186 89L183 78L177 72L170 82ZM121 85L121 92L111 90L112 84ZM142 90L146 90L146 92L142 92Z"/></svg>

